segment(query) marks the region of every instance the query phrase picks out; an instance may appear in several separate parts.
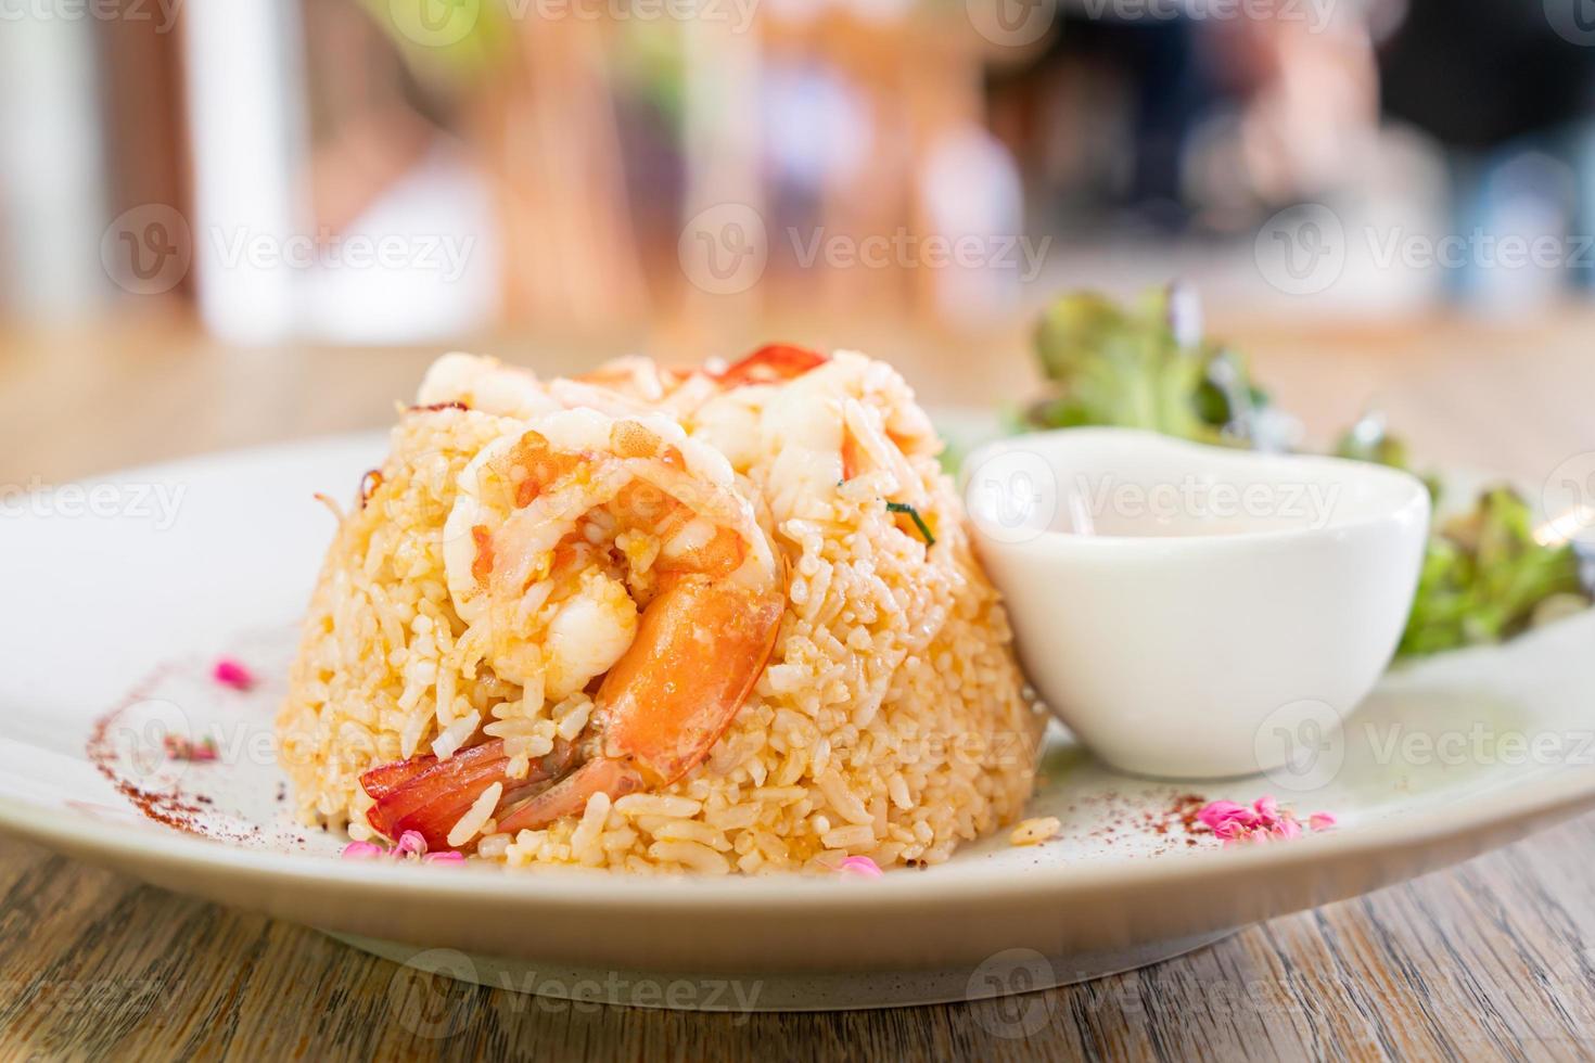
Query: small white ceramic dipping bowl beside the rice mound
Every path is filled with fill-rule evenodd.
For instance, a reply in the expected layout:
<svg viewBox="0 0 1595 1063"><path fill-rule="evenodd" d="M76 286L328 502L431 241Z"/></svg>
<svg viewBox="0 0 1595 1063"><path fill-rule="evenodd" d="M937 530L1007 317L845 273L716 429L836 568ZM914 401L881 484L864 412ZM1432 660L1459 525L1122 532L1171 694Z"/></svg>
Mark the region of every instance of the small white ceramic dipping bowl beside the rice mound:
<svg viewBox="0 0 1595 1063"><path fill-rule="evenodd" d="M963 494L1048 706L1171 779L1314 757L1389 665L1429 529L1408 473L1128 429L987 445Z"/></svg>

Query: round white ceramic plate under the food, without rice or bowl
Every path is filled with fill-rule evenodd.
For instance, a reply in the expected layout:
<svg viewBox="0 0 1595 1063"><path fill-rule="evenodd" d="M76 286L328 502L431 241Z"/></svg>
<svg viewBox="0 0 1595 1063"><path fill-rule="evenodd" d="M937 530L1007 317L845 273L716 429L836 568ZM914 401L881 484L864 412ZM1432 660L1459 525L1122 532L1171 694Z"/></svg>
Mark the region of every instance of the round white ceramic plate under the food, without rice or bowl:
<svg viewBox="0 0 1595 1063"><path fill-rule="evenodd" d="M121 473L81 497L6 499L0 827L456 977L545 993L590 977L620 1002L746 1007L746 993L635 991L657 987L657 972L735 977L758 987L756 1007L858 1007L1137 966L1595 806L1595 615L1582 615L1388 676L1345 741L1305 775L1147 783L1054 735L1030 814L1057 816L1057 840L1013 848L990 838L946 865L882 880L340 861L343 838L284 814L270 728L332 534L311 494L351 497L383 446L375 435L343 437ZM163 499L177 502L174 513ZM246 660L262 685L241 693L212 682L223 653ZM183 728L214 736L222 759L155 755L163 732ZM96 730L108 773L86 752ZM1292 792L1303 784L1311 789ZM1335 813L1340 827L1225 849L1172 811L1190 792L1271 792L1303 818ZM432 951L416 958L418 948ZM569 977L528 982L533 967ZM654 980L617 977L638 971Z"/></svg>

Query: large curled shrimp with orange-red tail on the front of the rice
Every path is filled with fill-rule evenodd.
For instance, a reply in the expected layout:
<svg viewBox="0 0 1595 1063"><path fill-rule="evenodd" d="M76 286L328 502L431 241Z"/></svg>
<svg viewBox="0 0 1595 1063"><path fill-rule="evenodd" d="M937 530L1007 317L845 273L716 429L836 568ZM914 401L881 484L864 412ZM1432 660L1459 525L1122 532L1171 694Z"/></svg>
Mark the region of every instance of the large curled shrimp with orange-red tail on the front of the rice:
<svg viewBox="0 0 1595 1063"><path fill-rule="evenodd" d="M785 564L731 465L660 416L569 410L483 448L443 563L498 677L549 698L598 690L587 728L520 778L509 739L362 776L372 827L434 848L494 783L499 830L522 830L683 778L746 701L786 607Z"/></svg>

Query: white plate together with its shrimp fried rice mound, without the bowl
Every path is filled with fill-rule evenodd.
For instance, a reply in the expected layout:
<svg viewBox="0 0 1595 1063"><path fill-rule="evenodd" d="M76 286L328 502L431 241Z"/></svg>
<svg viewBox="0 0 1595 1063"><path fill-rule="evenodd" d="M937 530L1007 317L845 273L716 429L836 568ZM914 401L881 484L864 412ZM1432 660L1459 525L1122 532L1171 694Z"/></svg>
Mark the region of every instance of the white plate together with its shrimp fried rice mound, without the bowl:
<svg viewBox="0 0 1595 1063"><path fill-rule="evenodd" d="M1595 805L1589 615L1392 671L1308 770L1101 767L941 451L857 352L451 354L386 435L24 507L0 826L456 977L861 1007L1139 966Z"/></svg>

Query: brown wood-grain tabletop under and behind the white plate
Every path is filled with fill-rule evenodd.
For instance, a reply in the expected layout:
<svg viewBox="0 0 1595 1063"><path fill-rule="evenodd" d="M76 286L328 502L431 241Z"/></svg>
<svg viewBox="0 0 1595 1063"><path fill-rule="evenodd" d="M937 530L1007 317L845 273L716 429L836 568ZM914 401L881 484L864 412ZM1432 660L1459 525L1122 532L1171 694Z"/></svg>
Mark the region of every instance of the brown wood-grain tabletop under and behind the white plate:
<svg viewBox="0 0 1595 1063"><path fill-rule="evenodd" d="M1376 397L1420 454L1539 483L1595 448L1592 324L1569 311L1536 328L1231 322L1230 331L1317 438ZM785 335L818 343L844 331ZM927 402L1002 398L1029 376L1019 330L850 338L877 339ZM624 339L483 346L573 368ZM656 349L671 346L660 338ZM380 426L426 359L226 351L172 322L0 338L0 484ZM1579 1058L1595 1053L1592 865L1595 818L1585 818L1147 971L1018 1002L700 1015L434 980L300 926L0 840L0 1058ZM1013 1036L1030 1015L1045 1020L1040 1031Z"/></svg>

